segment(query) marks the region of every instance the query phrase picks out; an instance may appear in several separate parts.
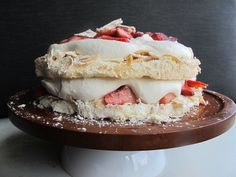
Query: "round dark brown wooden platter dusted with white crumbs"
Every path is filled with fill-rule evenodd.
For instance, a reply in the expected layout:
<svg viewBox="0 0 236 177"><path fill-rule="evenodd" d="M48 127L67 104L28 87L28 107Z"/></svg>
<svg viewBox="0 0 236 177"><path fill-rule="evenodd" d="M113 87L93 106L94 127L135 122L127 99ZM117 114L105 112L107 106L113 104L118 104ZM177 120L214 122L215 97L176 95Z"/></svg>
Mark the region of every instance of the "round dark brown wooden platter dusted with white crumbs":
<svg viewBox="0 0 236 177"><path fill-rule="evenodd" d="M11 122L31 135L82 148L131 151L189 145L224 133L236 116L231 99L209 90L204 91L207 105L189 112L181 121L165 124L114 123L58 114L33 104L42 94L36 88L12 96L8 101Z"/></svg>

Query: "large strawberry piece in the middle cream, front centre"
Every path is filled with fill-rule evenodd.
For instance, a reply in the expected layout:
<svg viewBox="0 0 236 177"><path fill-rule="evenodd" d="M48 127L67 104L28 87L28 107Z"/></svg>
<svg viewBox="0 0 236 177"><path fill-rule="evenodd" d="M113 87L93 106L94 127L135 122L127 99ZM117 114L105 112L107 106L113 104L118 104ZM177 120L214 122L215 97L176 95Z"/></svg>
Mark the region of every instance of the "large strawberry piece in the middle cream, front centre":
<svg viewBox="0 0 236 177"><path fill-rule="evenodd" d="M127 86L121 86L117 90L108 93L104 97L105 104L125 104L136 103L137 98L132 90Z"/></svg>

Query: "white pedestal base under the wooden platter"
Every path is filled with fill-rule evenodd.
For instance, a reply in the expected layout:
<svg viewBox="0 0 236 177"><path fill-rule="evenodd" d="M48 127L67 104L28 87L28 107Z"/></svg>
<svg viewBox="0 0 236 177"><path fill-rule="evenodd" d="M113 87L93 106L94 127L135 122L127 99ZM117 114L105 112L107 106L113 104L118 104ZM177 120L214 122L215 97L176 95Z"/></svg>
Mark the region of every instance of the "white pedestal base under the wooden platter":
<svg viewBox="0 0 236 177"><path fill-rule="evenodd" d="M72 177L157 177L166 164L163 150L107 151L65 146L62 165Z"/></svg>

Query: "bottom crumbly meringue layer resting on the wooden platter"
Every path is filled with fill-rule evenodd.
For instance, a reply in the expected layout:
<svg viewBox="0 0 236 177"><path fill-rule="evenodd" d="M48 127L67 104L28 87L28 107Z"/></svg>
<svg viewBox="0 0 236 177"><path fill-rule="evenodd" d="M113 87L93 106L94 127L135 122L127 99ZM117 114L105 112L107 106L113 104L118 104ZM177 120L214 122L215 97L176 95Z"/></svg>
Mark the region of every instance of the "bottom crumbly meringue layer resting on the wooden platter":
<svg viewBox="0 0 236 177"><path fill-rule="evenodd" d="M36 105L41 108L51 108L53 111L66 114L77 114L81 120L87 118L103 119L110 118L117 122L130 120L130 122L173 122L179 120L185 113L200 103L206 104L202 97L202 89L194 89L194 96L179 95L173 102L168 104L123 104L104 105L102 100L81 101L62 100L54 96L39 98ZM194 113L193 113L194 114Z"/></svg>

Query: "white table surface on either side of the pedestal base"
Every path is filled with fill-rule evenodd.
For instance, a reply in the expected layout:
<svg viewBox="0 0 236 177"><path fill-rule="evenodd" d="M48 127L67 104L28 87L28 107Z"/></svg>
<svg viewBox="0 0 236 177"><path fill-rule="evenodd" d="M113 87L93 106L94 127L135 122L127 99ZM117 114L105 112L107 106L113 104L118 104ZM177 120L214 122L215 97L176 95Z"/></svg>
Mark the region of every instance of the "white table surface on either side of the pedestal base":
<svg viewBox="0 0 236 177"><path fill-rule="evenodd" d="M0 177L69 177L60 149L0 119ZM167 165L158 177L236 177L236 124L221 136L165 154Z"/></svg>

